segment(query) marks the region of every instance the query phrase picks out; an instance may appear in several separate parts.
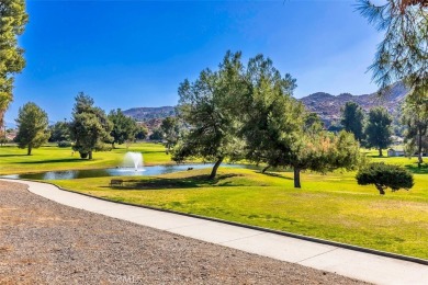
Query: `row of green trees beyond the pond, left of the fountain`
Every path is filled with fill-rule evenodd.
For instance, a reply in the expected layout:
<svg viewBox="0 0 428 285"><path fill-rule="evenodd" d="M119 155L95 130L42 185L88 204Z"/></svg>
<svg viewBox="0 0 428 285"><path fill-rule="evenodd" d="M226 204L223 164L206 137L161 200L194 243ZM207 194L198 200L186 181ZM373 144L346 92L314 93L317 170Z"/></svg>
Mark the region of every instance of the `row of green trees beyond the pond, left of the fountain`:
<svg viewBox="0 0 428 285"><path fill-rule="evenodd" d="M74 150L79 151L81 158L89 159L92 159L93 150L105 149L105 144L114 148L115 144L144 139L148 133L145 126L137 125L120 109L106 115L102 109L94 106L93 99L82 92L76 96L71 122L57 122L48 127L47 114L30 102L19 110L16 124L15 141L20 148L27 148L27 155L47 140L74 141Z"/></svg>

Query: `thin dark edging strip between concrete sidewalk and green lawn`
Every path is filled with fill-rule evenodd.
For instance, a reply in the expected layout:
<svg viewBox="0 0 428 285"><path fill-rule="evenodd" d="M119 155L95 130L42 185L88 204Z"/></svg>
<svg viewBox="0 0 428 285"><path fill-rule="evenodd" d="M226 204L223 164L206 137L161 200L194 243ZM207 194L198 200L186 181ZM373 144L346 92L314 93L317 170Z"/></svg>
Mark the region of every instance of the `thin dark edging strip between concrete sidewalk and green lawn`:
<svg viewBox="0 0 428 285"><path fill-rule="evenodd" d="M15 179L15 180L18 181L19 179ZM31 180L29 180L29 181L31 181ZM97 198L97 200L101 200L101 201L106 201L106 202L111 202L111 203L115 203L115 204L128 205L128 206L134 206L134 207L140 207L140 208L147 208L147 209L159 210L159 212L165 212L165 213L171 213L171 214L187 216L187 217L217 221L217 223L222 223L222 224L226 224L226 225L232 225L232 226L237 226L237 227L243 227L243 228L248 228L248 229L254 229L254 230L260 230L260 231L275 233L275 235L280 235L280 236L284 236L284 237L307 240L307 241L317 242L317 243L322 243L322 244L328 244L328 246L354 250L354 251L359 251L359 252L371 253L371 254L375 254L375 255L380 255L380 256L385 256L385 258L397 259L397 260L409 261L409 262L414 262L414 263L428 265L428 260L426 260L426 259L403 255L403 254L398 254L398 253L381 251L381 250L375 250L375 249L369 249L369 248L352 246L352 244L342 243L342 242L338 242L338 241L325 240L325 239L320 239L320 238L314 238L314 237L303 236L303 235L293 233L293 232L289 232L289 231L281 231L281 230L275 230L275 229L270 229L270 228L263 228L263 227L241 224L241 223L237 223L237 221L230 221L230 220L225 220L225 219L219 219L219 218L200 216L200 215L195 215L195 214L188 214L188 213L177 212L177 210L172 210L172 209L162 209L162 208L157 208L157 207L151 207L151 206L146 206L146 205L138 205L138 204L133 204L133 203L127 203L127 202L112 201L112 200L97 197L97 196L93 196L90 194L77 192L74 190L63 189L61 186L58 186L55 183L50 183L50 182L46 182L46 181L36 181L36 182L54 185L61 191L66 191L66 192L70 192L70 193L75 193L75 194L79 194L79 195L83 195L83 196L88 196L88 197L92 197L92 198Z"/></svg>

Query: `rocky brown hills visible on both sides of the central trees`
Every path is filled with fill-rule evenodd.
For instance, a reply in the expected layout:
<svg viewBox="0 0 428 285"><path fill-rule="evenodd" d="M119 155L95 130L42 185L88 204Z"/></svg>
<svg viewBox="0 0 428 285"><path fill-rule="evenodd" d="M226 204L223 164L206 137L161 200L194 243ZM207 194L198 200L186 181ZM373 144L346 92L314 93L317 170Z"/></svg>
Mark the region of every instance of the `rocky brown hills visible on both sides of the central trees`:
<svg viewBox="0 0 428 285"><path fill-rule="evenodd" d="M300 100L308 111L317 113L325 122L326 127L328 127L331 123L340 119L341 109L348 101L358 103L365 112L369 112L374 106L384 106L392 115L396 116L399 105L407 93L408 89L402 82L397 82L384 91L382 96L378 92L363 95L352 95L350 93L331 95L317 92ZM176 114L173 106L134 107L123 113L138 122L145 122L149 129L158 127L162 118Z"/></svg>

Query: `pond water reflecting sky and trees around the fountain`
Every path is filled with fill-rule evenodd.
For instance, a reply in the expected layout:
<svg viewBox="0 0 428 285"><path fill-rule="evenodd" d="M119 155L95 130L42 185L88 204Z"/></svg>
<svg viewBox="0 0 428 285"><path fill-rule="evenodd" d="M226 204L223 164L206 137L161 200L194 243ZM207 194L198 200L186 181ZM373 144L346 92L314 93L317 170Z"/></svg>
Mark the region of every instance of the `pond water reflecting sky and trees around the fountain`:
<svg viewBox="0 0 428 285"><path fill-rule="evenodd" d="M134 168L108 168L108 169L89 169L89 170L68 170L68 171L47 171L29 174L12 174L3 175L2 178L9 179L29 179L29 180L69 180L69 179L83 179L83 178L102 178L102 176L140 176L140 175L159 175L166 173L172 173L178 171L184 171L189 168L204 169L212 168L213 164L176 164L176 166L155 166L144 167L135 170ZM246 164L222 164L226 168L250 168L254 166Z"/></svg>

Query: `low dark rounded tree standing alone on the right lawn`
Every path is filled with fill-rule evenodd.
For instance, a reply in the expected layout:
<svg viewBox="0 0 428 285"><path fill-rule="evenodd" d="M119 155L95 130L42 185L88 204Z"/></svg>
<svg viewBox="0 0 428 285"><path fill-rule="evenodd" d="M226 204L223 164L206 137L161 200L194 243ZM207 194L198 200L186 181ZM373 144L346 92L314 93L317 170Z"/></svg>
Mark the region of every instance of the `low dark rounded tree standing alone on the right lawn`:
<svg viewBox="0 0 428 285"><path fill-rule="evenodd" d="M359 170L357 182L360 185L374 184L381 195L385 194L387 187L395 192L399 189L409 190L414 185L410 172L398 166L383 162L370 163L367 168Z"/></svg>

